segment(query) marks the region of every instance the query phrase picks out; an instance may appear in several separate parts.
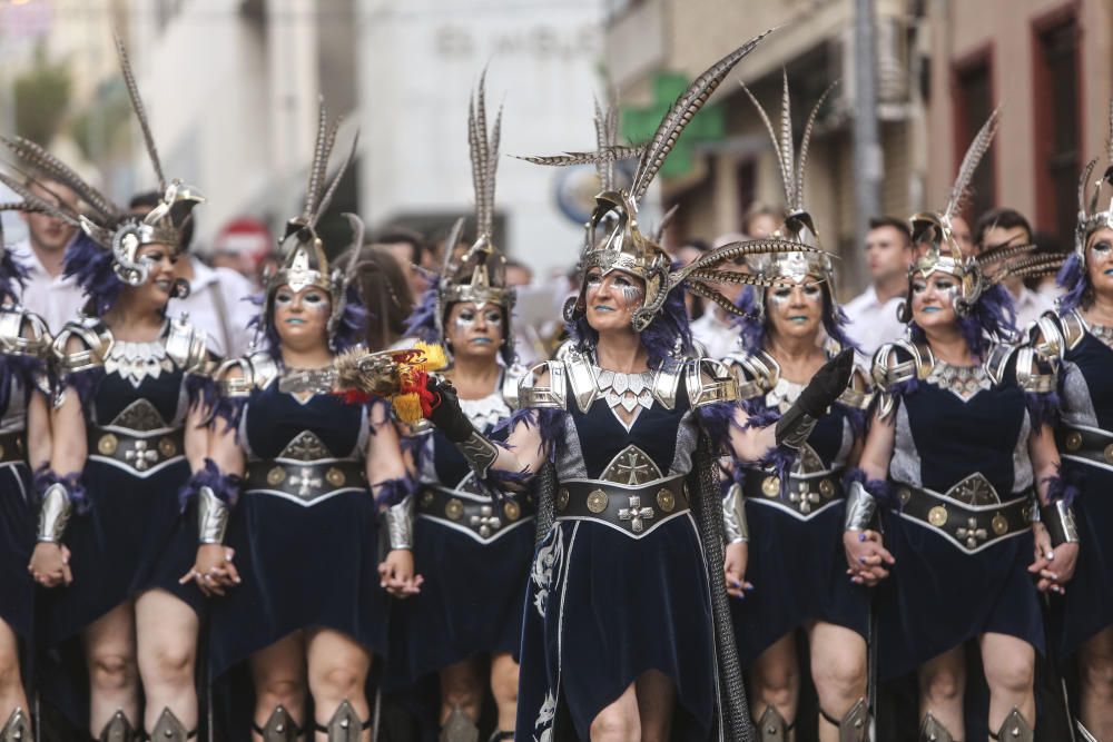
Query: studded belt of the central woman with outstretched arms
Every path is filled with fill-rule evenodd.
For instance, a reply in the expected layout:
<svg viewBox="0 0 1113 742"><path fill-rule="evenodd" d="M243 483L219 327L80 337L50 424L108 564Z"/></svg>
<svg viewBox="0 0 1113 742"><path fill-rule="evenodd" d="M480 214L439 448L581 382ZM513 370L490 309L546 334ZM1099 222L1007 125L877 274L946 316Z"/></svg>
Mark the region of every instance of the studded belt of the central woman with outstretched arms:
<svg viewBox="0 0 1113 742"><path fill-rule="evenodd" d="M688 508L688 488L679 474L643 485L570 479L561 482L556 491L558 518L603 521L634 536Z"/></svg>

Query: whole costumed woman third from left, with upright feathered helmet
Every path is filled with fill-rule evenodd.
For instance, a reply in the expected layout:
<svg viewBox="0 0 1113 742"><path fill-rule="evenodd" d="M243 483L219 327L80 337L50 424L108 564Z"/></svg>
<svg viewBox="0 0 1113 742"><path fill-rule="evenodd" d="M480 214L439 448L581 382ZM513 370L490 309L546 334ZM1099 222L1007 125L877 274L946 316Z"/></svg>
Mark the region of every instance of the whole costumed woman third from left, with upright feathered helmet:
<svg viewBox="0 0 1113 742"><path fill-rule="evenodd" d="M183 493L196 499L200 536L187 577L219 596L213 676L246 663L254 685L254 704L233 700L234 739L371 739L365 684L386 631L376 499L410 491L390 406L332 393L336 354L364 330L354 270L329 266L317 233L355 152L326 187L335 138L322 106L305 207L266 281L258 350L217 372L209 459ZM345 216L358 247L362 222ZM408 551L390 553L382 580L416 591Z"/></svg>

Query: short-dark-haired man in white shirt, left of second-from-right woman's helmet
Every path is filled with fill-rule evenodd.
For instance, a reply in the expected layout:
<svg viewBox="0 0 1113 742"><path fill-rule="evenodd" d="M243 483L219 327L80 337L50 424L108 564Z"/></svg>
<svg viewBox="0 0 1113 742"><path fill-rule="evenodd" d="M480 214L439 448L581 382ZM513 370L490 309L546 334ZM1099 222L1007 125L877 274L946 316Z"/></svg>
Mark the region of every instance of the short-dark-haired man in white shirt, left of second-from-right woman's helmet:
<svg viewBox="0 0 1113 742"><path fill-rule="evenodd" d="M870 285L843 307L850 320L847 333L858 344L861 363L869 363L885 343L904 336L905 326L897 319L897 308L908 293L912 259L912 233L904 220L893 217L869 220L866 265Z"/></svg>

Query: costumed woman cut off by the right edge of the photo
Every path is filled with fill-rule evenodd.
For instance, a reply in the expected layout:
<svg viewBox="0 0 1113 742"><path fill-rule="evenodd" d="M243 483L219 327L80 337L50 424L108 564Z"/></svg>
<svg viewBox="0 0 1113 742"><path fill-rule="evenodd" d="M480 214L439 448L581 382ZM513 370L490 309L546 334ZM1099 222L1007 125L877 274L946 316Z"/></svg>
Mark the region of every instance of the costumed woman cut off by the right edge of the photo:
<svg viewBox="0 0 1113 742"><path fill-rule="evenodd" d="M1077 657L1078 726L1086 740L1113 739L1113 552L1105 537L1113 524L1107 502L1113 397L1106 392L1113 369L1113 204L1099 207L1103 184L1113 185L1113 144L1106 157L1111 167L1099 180L1090 180L1096 160L1078 179L1074 253L1060 274L1065 294L1058 313L1045 314L1034 329L1036 347L1058 364L1055 437L1063 476L1080 485L1074 501L1078 566L1070 592L1053 602L1051 635L1056 656ZM1068 531L1066 537L1074 534Z"/></svg>

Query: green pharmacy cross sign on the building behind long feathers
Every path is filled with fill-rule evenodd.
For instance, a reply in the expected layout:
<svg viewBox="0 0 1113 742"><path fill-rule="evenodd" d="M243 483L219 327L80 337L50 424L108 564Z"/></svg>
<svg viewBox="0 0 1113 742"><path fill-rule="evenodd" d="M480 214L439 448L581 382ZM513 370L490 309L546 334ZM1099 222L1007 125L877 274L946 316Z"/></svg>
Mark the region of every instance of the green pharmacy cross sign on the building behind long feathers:
<svg viewBox="0 0 1113 742"><path fill-rule="evenodd" d="M657 72L653 76L653 101L644 108L621 107L622 136L627 141L648 142L657 131L664 115L691 82L678 72ZM705 106L688 123L661 166L661 176L676 178L692 167L692 150L699 141L717 141L726 136L726 118L720 106Z"/></svg>

